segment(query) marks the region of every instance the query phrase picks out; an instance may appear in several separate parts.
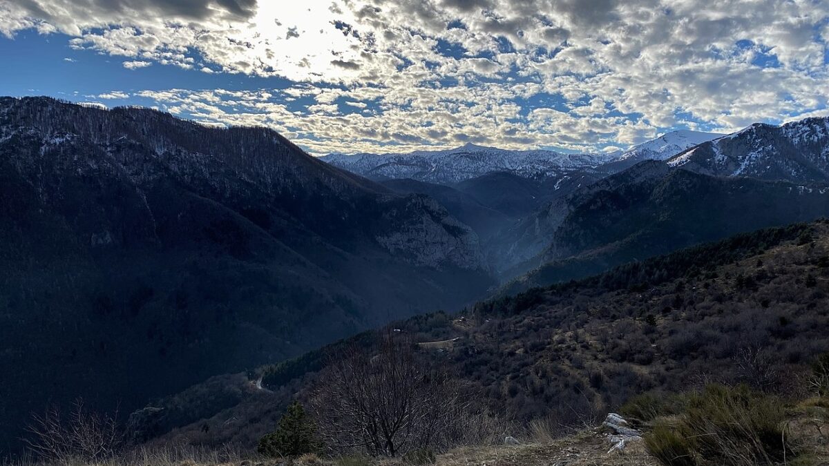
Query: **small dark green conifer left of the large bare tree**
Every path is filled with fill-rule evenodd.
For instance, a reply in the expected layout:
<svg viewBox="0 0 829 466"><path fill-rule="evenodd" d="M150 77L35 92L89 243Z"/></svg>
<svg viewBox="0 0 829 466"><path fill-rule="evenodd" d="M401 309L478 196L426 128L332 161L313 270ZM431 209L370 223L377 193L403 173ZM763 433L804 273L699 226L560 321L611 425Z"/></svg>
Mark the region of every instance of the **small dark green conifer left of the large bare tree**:
<svg viewBox="0 0 829 466"><path fill-rule="evenodd" d="M308 419L299 401L288 405L274 432L259 439L256 450L272 457L296 457L319 450L317 426Z"/></svg>

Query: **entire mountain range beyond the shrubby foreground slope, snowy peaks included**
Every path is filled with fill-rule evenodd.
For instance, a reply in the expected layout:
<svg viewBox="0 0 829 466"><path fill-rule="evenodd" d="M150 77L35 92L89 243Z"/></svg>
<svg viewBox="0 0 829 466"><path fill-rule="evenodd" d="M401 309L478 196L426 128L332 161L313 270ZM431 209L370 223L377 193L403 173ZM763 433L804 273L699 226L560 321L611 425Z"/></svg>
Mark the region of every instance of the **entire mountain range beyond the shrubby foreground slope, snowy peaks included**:
<svg viewBox="0 0 829 466"><path fill-rule="evenodd" d="M391 320L829 216L827 128L320 159L269 129L0 98L0 448L50 402L129 411Z"/></svg>

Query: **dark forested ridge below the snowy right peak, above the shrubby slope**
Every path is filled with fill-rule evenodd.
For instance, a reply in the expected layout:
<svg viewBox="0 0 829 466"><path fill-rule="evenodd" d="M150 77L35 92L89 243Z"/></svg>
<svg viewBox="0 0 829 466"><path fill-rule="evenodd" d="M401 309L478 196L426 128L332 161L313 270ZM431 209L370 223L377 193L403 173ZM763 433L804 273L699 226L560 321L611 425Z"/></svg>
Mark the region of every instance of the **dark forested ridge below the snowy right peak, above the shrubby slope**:
<svg viewBox="0 0 829 466"><path fill-rule="evenodd" d="M829 215L829 188L713 177L647 161L550 202L504 231L493 263L531 269L504 289L598 274L744 231ZM523 263L521 262L523 261Z"/></svg>

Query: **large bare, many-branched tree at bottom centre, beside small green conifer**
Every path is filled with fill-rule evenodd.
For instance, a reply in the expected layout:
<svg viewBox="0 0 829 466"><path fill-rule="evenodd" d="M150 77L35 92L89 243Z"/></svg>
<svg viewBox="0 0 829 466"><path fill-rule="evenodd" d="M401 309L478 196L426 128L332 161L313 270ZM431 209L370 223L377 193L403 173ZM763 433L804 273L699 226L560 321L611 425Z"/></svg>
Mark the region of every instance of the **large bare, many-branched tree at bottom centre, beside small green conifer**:
<svg viewBox="0 0 829 466"><path fill-rule="evenodd" d="M404 336L387 334L375 349L348 347L322 373L311 410L325 444L396 456L463 434L456 420L470 401L458 381L419 360Z"/></svg>

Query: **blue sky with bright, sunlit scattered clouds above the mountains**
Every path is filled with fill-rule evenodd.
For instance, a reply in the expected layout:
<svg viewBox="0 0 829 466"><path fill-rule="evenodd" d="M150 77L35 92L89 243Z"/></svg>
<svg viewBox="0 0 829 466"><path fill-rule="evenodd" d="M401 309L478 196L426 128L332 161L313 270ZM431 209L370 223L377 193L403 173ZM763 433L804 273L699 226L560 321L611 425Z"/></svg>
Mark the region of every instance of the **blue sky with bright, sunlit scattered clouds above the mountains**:
<svg viewBox="0 0 829 466"><path fill-rule="evenodd" d="M827 0L0 0L0 94L310 153L608 152L829 116Z"/></svg>

